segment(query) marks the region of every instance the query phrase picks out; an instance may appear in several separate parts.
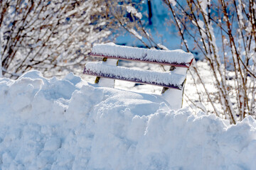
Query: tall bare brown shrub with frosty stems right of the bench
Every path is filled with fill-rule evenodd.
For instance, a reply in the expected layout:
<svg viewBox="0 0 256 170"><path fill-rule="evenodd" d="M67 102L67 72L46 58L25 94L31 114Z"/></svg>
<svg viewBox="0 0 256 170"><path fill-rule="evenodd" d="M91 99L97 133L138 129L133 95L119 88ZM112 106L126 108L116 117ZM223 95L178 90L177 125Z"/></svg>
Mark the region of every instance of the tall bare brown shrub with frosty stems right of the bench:
<svg viewBox="0 0 256 170"><path fill-rule="evenodd" d="M181 39L192 38L208 62L217 91L210 93L203 75L194 67L193 73L206 94L201 98L206 97L214 112L225 115L231 123L246 115L255 116L255 1L187 0L186 6L177 0L163 1L174 16ZM215 98L218 102L213 102Z"/></svg>

